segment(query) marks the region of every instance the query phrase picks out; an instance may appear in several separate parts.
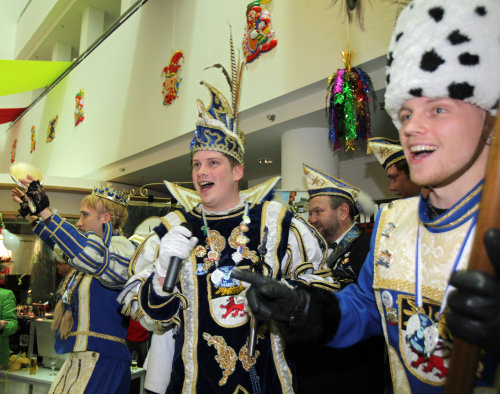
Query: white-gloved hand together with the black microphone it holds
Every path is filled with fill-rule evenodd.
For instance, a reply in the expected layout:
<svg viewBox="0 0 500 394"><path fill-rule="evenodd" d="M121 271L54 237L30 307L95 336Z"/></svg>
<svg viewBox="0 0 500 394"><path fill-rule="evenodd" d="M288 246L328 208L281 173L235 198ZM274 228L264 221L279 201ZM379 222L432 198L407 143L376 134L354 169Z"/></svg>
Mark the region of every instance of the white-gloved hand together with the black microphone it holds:
<svg viewBox="0 0 500 394"><path fill-rule="evenodd" d="M155 267L158 275L165 278L165 292L171 293L174 290L182 261L189 257L191 250L198 243L198 238L192 236L191 230L191 224L181 223L170 229L160 241L160 252Z"/></svg>

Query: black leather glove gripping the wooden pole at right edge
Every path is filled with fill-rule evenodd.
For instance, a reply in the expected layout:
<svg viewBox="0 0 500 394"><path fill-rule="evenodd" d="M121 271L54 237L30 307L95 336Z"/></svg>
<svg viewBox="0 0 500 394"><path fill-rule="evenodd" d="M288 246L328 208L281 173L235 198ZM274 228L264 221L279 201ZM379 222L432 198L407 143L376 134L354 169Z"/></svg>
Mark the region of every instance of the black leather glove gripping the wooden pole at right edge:
<svg viewBox="0 0 500 394"><path fill-rule="evenodd" d="M446 322L451 333L482 349L500 355L500 229L484 235L486 252L497 277L481 271L456 271L450 284Z"/></svg>

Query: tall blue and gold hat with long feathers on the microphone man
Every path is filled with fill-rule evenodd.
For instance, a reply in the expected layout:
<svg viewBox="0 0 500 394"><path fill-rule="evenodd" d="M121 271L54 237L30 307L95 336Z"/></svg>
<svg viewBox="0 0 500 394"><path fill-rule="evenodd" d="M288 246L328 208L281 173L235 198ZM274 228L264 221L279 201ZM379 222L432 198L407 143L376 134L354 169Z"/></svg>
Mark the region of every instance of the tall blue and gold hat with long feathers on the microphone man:
<svg viewBox="0 0 500 394"><path fill-rule="evenodd" d="M241 94L241 76L243 74L244 62L235 60L233 38L230 36L231 48L231 75L220 63L213 66L220 68L224 73L231 89L232 108L226 98L212 85L201 81L211 97L208 108L205 108L202 101L196 101L198 106L198 119L194 138L191 141L191 153L210 150L225 153L244 164L245 136L238 130L238 107Z"/></svg>

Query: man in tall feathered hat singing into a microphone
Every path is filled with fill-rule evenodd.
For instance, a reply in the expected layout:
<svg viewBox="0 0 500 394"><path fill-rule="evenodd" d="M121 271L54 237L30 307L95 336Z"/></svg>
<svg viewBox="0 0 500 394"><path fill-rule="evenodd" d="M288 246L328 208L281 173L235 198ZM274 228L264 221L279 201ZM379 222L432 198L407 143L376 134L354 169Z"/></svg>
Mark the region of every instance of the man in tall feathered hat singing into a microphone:
<svg viewBox="0 0 500 394"><path fill-rule="evenodd" d="M231 109L217 89L202 84L211 104L205 108L198 101L191 143L196 191L165 182L183 209L165 216L138 248L133 267L138 273L121 295L123 312L156 333L173 327L167 393L291 393L295 382L280 332L274 323L250 328L255 322L244 309L243 293L249 285L231 279L230 273L238 266L284 282L328 288L313 274L324 263L325 245L320 248L322 239L308 223L268 201L277 178L239 192L244 136L235 101ZM192 231L180 226L183 222ZM177 286L166 292L162 283L173 256L184 261ZM165 373L167 359L156 361ZM150 358L148 371L151 364Z"/></svg>

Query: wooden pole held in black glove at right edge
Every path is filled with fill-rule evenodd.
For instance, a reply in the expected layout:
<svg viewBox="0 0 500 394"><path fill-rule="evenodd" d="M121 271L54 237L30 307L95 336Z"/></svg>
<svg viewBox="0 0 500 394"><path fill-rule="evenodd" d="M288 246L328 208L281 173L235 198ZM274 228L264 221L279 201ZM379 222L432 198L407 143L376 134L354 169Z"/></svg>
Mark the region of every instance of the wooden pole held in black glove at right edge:
<svg viewBox="0 0 500 394"><path fill-rule="evenodd" d="M498 113L500 113L500 106ZM479 207L469 269L495 275L495 269L486 254L483 238L486 230L492 227L500 228L500 118L497 119L493 131ZM472 393L478 362L479 348L460 338L455 338L445 394Z"/></svg>

